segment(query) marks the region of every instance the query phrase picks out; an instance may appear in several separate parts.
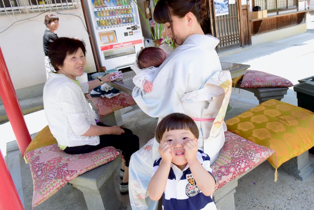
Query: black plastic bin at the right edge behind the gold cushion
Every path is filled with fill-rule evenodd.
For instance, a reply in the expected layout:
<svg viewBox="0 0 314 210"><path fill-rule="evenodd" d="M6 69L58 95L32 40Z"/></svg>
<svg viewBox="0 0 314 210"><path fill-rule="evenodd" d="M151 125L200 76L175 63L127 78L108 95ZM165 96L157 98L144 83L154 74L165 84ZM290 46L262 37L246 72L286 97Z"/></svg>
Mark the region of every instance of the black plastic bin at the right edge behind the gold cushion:
<svg viewBox="0 0 314 210"><path fill-rule="evenodd" d="M314 76L298 81L300 83L293 86L298 99L298 107L314 112ZM314 147L309 149L309 152L314 154Z"/></svg>

